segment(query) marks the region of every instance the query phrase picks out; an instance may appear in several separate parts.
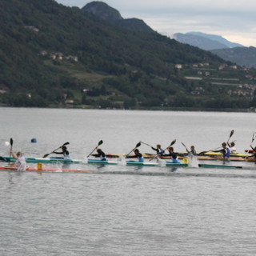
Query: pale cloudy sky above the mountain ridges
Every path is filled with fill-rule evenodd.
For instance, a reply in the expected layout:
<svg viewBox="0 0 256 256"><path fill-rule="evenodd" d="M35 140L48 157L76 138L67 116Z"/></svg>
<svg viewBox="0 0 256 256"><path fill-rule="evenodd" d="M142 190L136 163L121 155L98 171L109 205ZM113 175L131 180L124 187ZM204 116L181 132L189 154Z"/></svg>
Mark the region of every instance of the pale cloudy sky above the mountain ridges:
<svg viewBox="0 0 256 256"><path fill-rule="evenodd" d="M88 0L55 0L82 8ZM122 18L140 18L153 30L174 33L216 34L230 42L256 47L255 0L105 0Z"/></svg>

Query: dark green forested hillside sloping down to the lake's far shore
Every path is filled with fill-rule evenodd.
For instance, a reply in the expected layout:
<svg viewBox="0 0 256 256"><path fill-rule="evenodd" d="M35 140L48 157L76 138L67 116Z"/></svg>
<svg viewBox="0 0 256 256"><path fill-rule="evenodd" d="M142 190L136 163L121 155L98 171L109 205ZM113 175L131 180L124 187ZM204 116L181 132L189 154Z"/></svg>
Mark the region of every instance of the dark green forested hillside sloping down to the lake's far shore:
<svg viewBox="0 0 256 256"><path fill-rule="evenodd" d="M199 82L186 75L194 74L195 63L229 64L53 0L0 0L0 22L2 106L208 108L220 90L194 96ZM228 101L241 107L234 104L241 97ZM242 102L254 106L251 96Z"/></svg>

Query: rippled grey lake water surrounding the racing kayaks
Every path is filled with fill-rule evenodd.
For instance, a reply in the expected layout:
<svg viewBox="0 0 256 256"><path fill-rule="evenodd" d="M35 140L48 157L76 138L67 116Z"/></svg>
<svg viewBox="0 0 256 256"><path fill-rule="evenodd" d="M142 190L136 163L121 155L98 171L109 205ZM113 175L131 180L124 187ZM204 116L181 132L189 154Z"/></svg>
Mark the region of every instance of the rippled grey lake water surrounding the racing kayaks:
<svg viewBox="0 0 256 256"><path fill-rule="evenodd" d="M183 142L199 152L220 146L230 130L243 153L256 131L254 113L0 108L0 118L0 155L13 138L14 151L34 157L70 142L71 157L83 159L100 140L114 154L139 141L166 148L174 138L175 151ZM78 166L92 173L1 171L0 255L256 254L254 163L242 170Z"/></svg>

